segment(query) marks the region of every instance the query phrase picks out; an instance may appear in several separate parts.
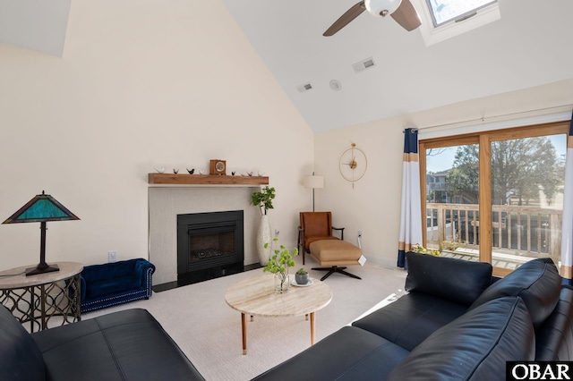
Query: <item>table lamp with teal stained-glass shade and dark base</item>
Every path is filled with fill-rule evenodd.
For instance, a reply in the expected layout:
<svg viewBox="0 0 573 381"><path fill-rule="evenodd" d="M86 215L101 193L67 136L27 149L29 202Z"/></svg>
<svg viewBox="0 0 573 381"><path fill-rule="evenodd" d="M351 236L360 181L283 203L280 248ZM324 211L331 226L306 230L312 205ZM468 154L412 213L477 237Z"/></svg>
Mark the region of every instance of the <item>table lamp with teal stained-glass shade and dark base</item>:
<svg viewBox="0 0 573 381"><path fill-rule="evenodd" d="M26 270L26 275L36 275L59 271L56 265L48 266L46 263L46 223L47 221L67 221L79 220L64 205L60 204L49 194L38 194L30 199L26 205L21 207L16 213L8 217L3 224L23 224L23 223L40 223L40 248L39 264L37 267L31 267Z"/></svg>

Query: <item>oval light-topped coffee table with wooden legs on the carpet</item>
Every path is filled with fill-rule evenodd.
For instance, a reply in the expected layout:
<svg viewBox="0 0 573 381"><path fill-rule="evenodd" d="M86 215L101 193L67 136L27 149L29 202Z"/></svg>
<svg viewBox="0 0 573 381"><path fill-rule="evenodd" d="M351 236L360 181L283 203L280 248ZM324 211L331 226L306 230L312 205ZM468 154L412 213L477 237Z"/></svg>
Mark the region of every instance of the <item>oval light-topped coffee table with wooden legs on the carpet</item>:
<svg viewBox="0 0 573 381"><path fill-rule="evenodd" d="M247 354L247 315L277 318L310 315L311 344L314 344L314 312L332 300L328 284L312 279L312 285L291 285L288 292L275 292L274 275L259 275L233 284L225 292L225 301L241 312L243 354Z"/></svg>

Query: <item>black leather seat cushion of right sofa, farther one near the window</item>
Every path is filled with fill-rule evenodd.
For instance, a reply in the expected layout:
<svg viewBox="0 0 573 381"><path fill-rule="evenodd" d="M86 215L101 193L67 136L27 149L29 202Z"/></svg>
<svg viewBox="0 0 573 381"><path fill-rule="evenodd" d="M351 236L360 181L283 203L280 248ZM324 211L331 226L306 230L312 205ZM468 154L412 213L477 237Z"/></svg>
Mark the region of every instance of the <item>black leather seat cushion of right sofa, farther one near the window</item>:
<svg viewBox="0 0 573 381"><path fill-rule="evenodd" d="M356 320L352 325L412 351L434 331L466 311L465 304L423 292L410 292L398 301Z"/></svg>

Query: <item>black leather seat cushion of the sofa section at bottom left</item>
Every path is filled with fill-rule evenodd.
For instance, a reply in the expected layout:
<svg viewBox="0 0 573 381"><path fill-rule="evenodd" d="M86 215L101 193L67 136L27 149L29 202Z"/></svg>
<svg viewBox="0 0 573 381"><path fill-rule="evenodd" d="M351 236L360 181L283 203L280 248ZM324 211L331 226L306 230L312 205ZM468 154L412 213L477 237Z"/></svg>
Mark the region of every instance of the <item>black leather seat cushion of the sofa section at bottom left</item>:
<svg viewBox="0 0 573 381"><path fill-rule="evenodd" d="M31 335L50 380L203 379L145 309L125 309Z"/></svg>

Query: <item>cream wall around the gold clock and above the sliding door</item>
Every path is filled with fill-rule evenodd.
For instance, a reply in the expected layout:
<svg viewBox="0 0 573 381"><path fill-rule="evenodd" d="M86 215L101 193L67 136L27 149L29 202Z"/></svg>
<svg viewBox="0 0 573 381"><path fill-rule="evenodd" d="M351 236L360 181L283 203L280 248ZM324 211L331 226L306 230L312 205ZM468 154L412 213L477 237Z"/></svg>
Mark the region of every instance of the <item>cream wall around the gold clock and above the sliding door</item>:
<svg viewBox="0 0 573 381"><path fill-rule="evenodd" d="M567 106L556 107L564 105ZM512 123L514 126L519 125L523 123L524 115L540 123L544 117L551 118L551 115L544 114L558 110L560 114L563 114L562 110L567 110L562 120L568 120L572 105L573 80L563 80L421 113L405 114L398 118L319 132L314 139L315 168L316 174L325 176L325 186L322 190L316 190L316 208L333 212L333 223L346 227L346 241L355 243L357 231L363 230L365 256L378 263L393 266L398 253L404 128L420 128L420 139L423 139L424 135L430 135L430 131L435 134L436 130L441 130L442 135L458 134L462 131L457 125L422 130L424 127L479 120L482 117L485 117L485 123L491 123L495 128L500 128L500 120L505 120L505 127L511 126ZM540 110L548 107L556 108ZM493 117L501 114L510 115L505 118ZM534 117L535 115L537 116ZM480 124L483 123L460 125L469 125L471 131L483 127ZM456 130L453 127L456 127ZM363 179L355 182L354 189L338 170L339 157L352 142L363 148L368 157L367 172Z"/></svg>

